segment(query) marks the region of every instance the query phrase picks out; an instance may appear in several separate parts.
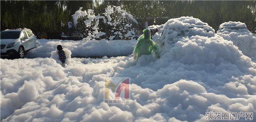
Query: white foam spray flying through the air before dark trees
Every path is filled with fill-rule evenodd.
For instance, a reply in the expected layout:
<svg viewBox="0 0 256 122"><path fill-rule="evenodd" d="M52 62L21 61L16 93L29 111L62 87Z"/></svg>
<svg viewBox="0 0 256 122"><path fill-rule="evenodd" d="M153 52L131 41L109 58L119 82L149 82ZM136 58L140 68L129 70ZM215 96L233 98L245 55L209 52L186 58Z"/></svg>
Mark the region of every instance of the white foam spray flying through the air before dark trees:
<svg viewBox="0 0 256 122"><path fill-rule="evenodd" d="M95 16L93 10L83 12L84 16L77 19L76 30L81 32L84 37L88 39L99 39L101 37L110 40L135 38L137 21L131 14L122 10L120 6L108 6L105 12L97 16ZM105 34L101 35L102 33L99 34L99 32ZM99 37L99 35L101 36Z"/></svg>

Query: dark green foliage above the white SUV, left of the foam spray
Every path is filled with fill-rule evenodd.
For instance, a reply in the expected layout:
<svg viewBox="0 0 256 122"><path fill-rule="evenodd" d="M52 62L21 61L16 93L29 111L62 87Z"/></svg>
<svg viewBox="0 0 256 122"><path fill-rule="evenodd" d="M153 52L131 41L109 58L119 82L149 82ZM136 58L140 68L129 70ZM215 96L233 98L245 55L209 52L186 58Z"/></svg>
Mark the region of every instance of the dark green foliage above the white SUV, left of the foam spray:
<svg viewBox="0 0 256 122"><path fill-rule="evenodd" d="M84 6L89 9L92 1L0 1L1 30L30 28L39 32L67 31L71 15ZM81 4L83 3L83 4ZM79 5L79 6L78 6ZM61 22L65 24L61 27Z"/></svg>

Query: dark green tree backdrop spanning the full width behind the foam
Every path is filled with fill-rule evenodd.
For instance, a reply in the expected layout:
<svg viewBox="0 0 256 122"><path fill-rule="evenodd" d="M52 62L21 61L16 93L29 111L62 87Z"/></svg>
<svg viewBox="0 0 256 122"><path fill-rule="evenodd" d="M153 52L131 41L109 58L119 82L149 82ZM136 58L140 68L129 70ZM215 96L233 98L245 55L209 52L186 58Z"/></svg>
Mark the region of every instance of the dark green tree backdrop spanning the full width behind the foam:
<svg viewBox="0 0 256 122"><path fill-rule="evenodd" d="M149 25L163 24L170 18L192 16L218 30L221 23L240 21L256 28L256 1L161 1L161 0L125 0L111 1L0 1L1 30L7 28L31 28L32 31L67 31L67 22L71 15L83 7L93 9L97 14L105 12L108 5L123 6L140 23L146 20ZM154 19L148 19L153 17ZM166 17L166 18L163 18ZM118 18L117 18L118 19ZM155 23L154 23L155 20ZM61 22L65 24L61 27ZM103 25L102 21L99 25ZM107 28L99 26L106 31ZM108 27L111 28L111 27Z"/></svg>

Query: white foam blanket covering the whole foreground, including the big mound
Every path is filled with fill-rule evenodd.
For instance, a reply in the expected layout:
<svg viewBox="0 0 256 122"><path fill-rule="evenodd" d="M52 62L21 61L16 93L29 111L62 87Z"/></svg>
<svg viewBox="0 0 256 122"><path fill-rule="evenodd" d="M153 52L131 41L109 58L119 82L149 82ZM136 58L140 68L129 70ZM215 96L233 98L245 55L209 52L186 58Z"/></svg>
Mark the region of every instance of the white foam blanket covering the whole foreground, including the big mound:
<svg viewBox="0 0 256 122"><path fill-rule="evenodd" d="M177 36L195 21L207 26L192 17L163 25L159 59L69 57L64 67L55 51L52 58L0 59L1 120L205 122L205 112L253 112L255 118L256 63L210 31ZM173 23L185 26L185 33L178 26L168 29ZM176 36L166 35L170 31ZM106 77L131 78L130 104L104 102Z"/></svg>

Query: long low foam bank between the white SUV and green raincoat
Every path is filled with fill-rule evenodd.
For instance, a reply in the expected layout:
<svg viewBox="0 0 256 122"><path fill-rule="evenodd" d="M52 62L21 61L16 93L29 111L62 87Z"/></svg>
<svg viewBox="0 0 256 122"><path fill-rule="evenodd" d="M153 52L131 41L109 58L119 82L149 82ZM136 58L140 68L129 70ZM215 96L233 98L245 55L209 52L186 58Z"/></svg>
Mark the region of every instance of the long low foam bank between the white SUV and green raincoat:
<svg viewBox="0 0 256 122"><path fill-rule="evenodd" d="M38 47L27 52L25 57L51 57L57 45L69 49L71 57L127 56L132 53L136 40L38 40Z"/></svg>

